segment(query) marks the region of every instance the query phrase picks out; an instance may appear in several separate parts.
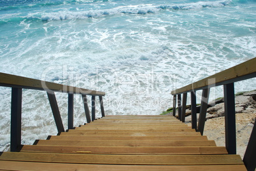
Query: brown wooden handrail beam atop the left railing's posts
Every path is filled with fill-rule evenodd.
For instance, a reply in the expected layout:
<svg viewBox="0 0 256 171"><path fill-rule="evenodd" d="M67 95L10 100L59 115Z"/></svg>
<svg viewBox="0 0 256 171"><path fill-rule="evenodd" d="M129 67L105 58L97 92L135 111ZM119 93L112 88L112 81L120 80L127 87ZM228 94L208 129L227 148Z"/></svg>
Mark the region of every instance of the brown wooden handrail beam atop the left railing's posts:
<svg viewBox="0 0 256 171"><path fill-rule="evenodd" d="M74 93L83 95L97 95L104 96L104 92L97 92L95 90L88 90L85 88L77 88L75 86L60 85L57 83L50 83L41 81L39 79L25 78L22 76L15 76L0 72L0 86L9 86L15 88L27 88L33 90L46 90L53 92Z"/></svg>

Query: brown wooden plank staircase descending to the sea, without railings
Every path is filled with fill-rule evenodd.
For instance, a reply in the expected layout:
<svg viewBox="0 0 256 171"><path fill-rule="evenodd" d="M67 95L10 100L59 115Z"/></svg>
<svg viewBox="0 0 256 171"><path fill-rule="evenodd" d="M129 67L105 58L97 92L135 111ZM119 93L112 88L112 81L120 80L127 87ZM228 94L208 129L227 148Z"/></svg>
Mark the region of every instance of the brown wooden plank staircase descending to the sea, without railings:
<svg viewBox="0 0 256 171"><path fill-rule="evenodd" d="M246 170L173 116L106 116L0 155L0 170Z"/></svg>

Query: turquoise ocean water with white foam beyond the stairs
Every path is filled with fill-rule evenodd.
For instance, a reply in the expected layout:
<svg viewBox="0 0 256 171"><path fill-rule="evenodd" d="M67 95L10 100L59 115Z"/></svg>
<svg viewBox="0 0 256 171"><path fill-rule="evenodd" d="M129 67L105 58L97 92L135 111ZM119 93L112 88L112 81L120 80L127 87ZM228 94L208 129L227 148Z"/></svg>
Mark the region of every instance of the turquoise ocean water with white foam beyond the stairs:
<svg viewBox="0 0 256 171"><path fill-rule="evenodd" d="M255 57L255 11L255 0L0 0L0 72L106 92L106 114L159 114L171 90ZM2 149L10 95L0 87ZM57 100L66 127L67 95ZM45 92L24 90L22 103L22 143L57 133Z"/></svg>

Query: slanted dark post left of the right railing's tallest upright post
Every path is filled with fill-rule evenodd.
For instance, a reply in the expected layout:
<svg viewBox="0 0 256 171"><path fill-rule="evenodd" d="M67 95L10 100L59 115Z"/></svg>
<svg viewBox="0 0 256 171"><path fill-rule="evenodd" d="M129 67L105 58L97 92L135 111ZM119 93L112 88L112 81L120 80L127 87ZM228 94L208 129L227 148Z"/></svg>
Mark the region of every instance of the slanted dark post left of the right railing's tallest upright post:
<svg viewBox="0 0 256 171"><path fill-rule="evenodd" d="M201 99L201 108L199 114L198 128L197 132L200 132L201 135L204 133L204 123L206 120L206 111L208 107L210 88L206 88L203 90L202 99Z"/></svg>

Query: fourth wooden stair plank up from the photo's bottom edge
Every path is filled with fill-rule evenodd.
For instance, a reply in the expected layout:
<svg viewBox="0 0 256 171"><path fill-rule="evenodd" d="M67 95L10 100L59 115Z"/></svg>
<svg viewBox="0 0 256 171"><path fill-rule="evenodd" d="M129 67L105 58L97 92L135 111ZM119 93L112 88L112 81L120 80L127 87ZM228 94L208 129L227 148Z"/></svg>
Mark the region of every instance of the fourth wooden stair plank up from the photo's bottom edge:
<svg viewBox="0 0 256 171"><path fill-rule="evenodd" d="M52 146L216 146L214 140L38 140Z"/></svg>

